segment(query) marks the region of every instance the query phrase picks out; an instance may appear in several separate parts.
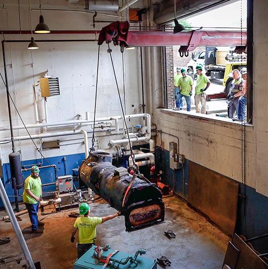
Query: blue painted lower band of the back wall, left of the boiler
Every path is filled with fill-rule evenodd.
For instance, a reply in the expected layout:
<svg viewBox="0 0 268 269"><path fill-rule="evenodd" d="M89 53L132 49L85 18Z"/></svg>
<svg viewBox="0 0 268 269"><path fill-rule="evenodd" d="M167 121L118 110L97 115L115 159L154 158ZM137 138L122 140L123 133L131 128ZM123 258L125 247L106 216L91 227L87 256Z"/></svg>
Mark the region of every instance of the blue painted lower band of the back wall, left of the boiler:
<svg viewBox="0 0 268 269"><path fill-rule="evenodd" d="M47 158L50 164L56 165L58 177L65 176L65 175L72 175L72 169L77 168L82 163L83 159L85 159L85 153L76 153L72 155ZM28 161L23 161L23 165L27 166L26 168L29 168L31 167L31 165L41 163L41 162L42 162L41 159L28 160ZM43 159L43 164L41 166L45 166L45 165L48 165L48 163L46 160ZM31 174L30 171L23 172L24 179L26 179L30 174ZM54 169L52 167L40 169L40 178L43 184L54 182L55 181ZM14 196L14 192L12 188L9 163L5 163L3 165L2 181L6 188L7 194L9 196L9 200L11 202L14 202L14 197L12 197ZM76 188L78 188L78 183L79 183L78 181L74 182ZM44 192L49 192L49 191L54 191L54 190L55 190L55 185L43 187ZM23 188L21 188L18 191L20 195L23 194ZM22 197L19 197L18 201L22 202ZM0 208L3 206L4 205L2 203L2 200L0 199Z"/></svg>

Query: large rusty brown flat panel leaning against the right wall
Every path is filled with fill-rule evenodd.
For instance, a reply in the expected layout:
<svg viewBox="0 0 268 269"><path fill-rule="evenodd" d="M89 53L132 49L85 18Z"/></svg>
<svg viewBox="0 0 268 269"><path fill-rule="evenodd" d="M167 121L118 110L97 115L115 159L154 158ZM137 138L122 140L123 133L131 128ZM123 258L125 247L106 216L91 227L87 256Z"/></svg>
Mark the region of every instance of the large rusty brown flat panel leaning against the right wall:
<svg viewBox="0 0 268 269"><path fill-rule="evenodd" d="M226 235L235 231L238 182L189 162L188 202Z"/></svg>

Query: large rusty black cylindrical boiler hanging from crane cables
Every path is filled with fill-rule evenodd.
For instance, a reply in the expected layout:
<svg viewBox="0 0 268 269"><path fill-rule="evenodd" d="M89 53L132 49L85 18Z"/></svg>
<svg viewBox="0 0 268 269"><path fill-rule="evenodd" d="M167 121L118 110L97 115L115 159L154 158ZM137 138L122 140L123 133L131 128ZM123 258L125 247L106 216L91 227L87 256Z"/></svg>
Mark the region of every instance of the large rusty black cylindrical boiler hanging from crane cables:
<svg viewBox="0 0 268 269"><path fill-rule="evenodd" d="M123 199L132 176L127 169L111 164L107 152L91 152L79 168L80 179L112 207L123 212L127 232L164 220L162 194L155 184L138 177L133 181L123 206Z"/></svg>

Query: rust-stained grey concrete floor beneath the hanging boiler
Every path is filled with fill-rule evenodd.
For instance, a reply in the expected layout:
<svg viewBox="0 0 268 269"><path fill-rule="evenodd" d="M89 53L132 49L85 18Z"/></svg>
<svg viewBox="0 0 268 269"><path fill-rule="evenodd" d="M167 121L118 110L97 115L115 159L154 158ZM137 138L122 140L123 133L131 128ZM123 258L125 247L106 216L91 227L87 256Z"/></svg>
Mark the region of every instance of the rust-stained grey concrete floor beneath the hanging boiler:
<svg viewBox="0 0 268 269"><path fill-rule="evenodd" d="M208 223L205 218L189 208L177 197L164 198L166 215L165 222L136 232L125 232L124 217L117 217L98 227L98 238L95 242L104 246L109 244L112 249L135 254L145 247L147 253L144 257L158 258L167 256L172 262L168 268L192 269L221 268L228 237L217 228ZM99 202L103 203L103 201ZM91 208L92 216L105 216L115 212L107 204ZM52 209L46 209L50 213ZM40 216L45 222L42 235L24 234L34 261L41 261L42 269L67 269L73 268L76 258L75 245L70 242L70 231L74 223L68 211ZM5 212L1 212L5 215ZM19 222L24 231L30 226L28 215L23 215ZM176 234L175 239L168 239L164 231L171 229ZM1 257L21 253L20 246L13 233L11 223L0 221L0 237L11 237L9 244L0 245ZM6 268L22 268L16 263L9 263ZM159 268L161 266L158 265Z"/></svg>

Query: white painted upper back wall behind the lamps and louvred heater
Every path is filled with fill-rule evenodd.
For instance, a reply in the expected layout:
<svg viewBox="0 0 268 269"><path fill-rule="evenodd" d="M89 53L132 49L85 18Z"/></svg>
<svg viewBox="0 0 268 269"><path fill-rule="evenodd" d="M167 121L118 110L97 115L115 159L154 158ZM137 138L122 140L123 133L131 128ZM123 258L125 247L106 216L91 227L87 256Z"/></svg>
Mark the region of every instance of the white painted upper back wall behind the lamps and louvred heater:
<svg viewBox="0 0 268 269"><path fill-rule="evenodd" d="M73 5L74 8L83 8L83 1L79 5ZM30 19L28 1L20 1L21 3L21 29L30 30ZM39 1L31 1L32 8L39 7ZM1 30L18 30L18 7L17 1L0 1L0 28ZM43 8L58 6L58 8L66 8L65 0L46 1ZM43 11L45 22L51 30L93 30L92 13L76 13L62 11ZM32 11L33 28L39 21L39 11ZM116 20L114 17L98 15L98 20ZM121 20L119 17L118 20ZM104 25L97 24L95 30L100 30ZM55 35L55 34L34 34L35 40L38 39L95 39L95 35ZM2 36L3 39L3 36ZM2 40L1 39L1 40ZM5 36L6 40L20 39L29 40L30 35L10 35ZM98 39L98 36L97 36ZM26 43L6 43L7 70L9 77L9 89L16 102L22 118L26 124L35 123L35 111L33 107L33 82L41 78L46 70L50 75L59 78L61 95L48 98L48 115L49 122L59 122L77 119L77 115L81 114L85 119L85 112L90 112L93 119L94 111L94 94L97 74L97 42L90 43L38 43L40 49L28 50L28 42ZM110 45L114 67L116 68L117 79L120 92L123 98L123 65L122 54L119 47ZM32 55L31 55L32 53ZM33 65L32 65L33 60ZM0 53L0 71L4 75L3 57ZM34 79L33 79L34 71ZM141 104L141 75L140 75L140 52L136 50L125 51L125 82L126 82L126 113L134 113L139 109ZM39 92L39 98L40 92ZM42 102L44 100L42 99ZM12 118L14 125L21 125L21 121L17 120L14 107L12 108ZM44 105L42 104L42 120L44 120ZM112 72L107 45L101 46L100 69L98 83L98 104L97 117L121 115L121 107L117 94L116 83ZM133 121L135 124L135 121ZM2 82L0 82L0 126L9 126L6 90ZM84 129L90 130L89 127ZM71 127L58 128L54 131L72 130ZM38 133L37 129L30 129L32 134ZM45 130L44 130L45 131ZM51 130L49 130L51 131ZM14 131L14 135L25 135L25 130ZM10 136L9 131L0 132L0 137ZM52 138L55 139L71 139L81 137L82 134L72 137ZM89 134L90 137L90 134ZM100 138L99 146L107 148L107 142L110 139L119 139L120 136ZM51 139L43 139L48 141ZM39 146L39 140L36 140ZM40 158L40 154L36 152L31 141L15 142L17 149L21 148L24 160ZM2 151L2 161L8 162L8 154L11 152L11 143L0 145ZM61 149L53 149L44 151L45 157L61 156L72 153L84 152L84 145L63 146Z"/></svg>

